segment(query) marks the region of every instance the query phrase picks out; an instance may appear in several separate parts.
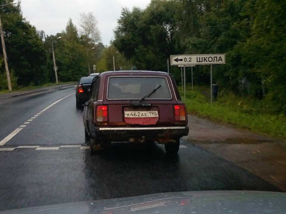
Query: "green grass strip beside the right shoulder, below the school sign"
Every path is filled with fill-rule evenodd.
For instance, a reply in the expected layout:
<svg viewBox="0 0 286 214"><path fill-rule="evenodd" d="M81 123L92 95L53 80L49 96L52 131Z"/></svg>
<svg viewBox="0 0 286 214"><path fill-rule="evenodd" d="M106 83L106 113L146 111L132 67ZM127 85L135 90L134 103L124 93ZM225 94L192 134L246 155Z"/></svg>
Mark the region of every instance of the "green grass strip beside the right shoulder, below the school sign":
<svg viewBox="0 0 286 214"><path fill-rule="evenodd" d="M178 89L184 100L184 93ZM264 108L264 101L250 97L240 97L233 93L222 92L217 101L210 104L208 87L186 86L186 107L191 114L198 114L209 119L228 122L240 128L268 134L274 137L286 137L286 117L284 114L270 114Z"/></svg>

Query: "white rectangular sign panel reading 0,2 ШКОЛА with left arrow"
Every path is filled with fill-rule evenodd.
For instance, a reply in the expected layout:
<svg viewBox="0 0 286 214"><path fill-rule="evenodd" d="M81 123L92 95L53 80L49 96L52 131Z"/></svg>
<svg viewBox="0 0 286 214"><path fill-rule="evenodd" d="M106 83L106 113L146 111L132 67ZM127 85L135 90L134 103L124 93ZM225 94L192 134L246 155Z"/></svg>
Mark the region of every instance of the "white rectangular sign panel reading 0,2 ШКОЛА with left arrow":
<svg viewBox="0 0 286 214"><path fill-rule="evenodd" d="M226 64L225 54L171 55L171 65Z"/></svg>

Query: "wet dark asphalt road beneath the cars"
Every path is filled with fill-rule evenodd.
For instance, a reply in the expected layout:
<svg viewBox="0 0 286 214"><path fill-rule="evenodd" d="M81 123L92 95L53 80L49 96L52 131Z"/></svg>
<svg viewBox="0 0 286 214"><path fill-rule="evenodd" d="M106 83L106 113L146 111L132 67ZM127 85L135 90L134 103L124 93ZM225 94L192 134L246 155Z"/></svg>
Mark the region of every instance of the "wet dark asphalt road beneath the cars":
<svg viewBox="0 0 286 214"><path fill-rule="evenodd" d="M0 100L0 140L74 88ZM64 98L0 147L84 145L82 110ZM181 141L178 156L164 146L116 144L91 156L81 147L0 151L0 211L158 192L197 190L279 191L212 153Z"/></svg>

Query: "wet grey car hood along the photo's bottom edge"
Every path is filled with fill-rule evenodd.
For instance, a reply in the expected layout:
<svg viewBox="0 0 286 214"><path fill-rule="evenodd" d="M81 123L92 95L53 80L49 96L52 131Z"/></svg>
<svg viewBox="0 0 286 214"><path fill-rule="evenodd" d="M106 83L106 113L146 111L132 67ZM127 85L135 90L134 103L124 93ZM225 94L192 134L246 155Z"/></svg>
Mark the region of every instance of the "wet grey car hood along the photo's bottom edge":
<svg viewBox="0 0 286 214"><path fill-rule="evenodd" d="M56 204L0 212L0 214L4 213L286 213L286 193L262 191L195 191L157 193L120 199Z"/></svg>

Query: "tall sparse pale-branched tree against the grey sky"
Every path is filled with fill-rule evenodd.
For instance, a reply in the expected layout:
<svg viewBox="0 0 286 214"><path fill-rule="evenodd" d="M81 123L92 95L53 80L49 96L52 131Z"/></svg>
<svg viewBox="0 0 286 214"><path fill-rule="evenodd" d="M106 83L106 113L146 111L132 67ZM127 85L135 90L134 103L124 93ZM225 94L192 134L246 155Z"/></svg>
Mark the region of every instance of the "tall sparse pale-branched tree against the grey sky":
<svg viewBox="0 0 286 214"><path fill-rule="evenodd" d="M89 43L100 42L100 31L97 27L98 21L92 12L80 13L80 27L81 34L85 35L89 39Z"/></svg>

